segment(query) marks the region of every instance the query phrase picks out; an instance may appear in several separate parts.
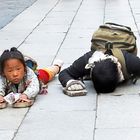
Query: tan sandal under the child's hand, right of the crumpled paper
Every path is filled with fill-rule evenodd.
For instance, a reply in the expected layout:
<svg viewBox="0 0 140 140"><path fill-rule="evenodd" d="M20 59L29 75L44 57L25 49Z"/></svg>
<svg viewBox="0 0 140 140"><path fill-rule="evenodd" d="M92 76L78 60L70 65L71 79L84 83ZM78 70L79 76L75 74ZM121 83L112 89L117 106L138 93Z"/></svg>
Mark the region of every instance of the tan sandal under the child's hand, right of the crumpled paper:
<svg viewBox="0 0 140 140"><path fill-rule="evenodd" d="M16 102L12 105L13 108L26 108L34 104L34 100L23 99L21 102Z"/></svg>

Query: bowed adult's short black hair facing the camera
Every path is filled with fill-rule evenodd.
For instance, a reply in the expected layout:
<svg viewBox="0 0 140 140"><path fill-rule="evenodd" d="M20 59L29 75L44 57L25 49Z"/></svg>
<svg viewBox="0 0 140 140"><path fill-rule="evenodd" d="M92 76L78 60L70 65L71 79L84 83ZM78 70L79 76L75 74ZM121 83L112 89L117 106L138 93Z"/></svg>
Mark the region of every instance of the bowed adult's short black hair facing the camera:
<svg viewBox="0 0 140 140"><path fill-rule="evenodd" d="M118 84L118 69L111 59L95 63L91 69L91 79L97 93L113 92Z"/></svg>

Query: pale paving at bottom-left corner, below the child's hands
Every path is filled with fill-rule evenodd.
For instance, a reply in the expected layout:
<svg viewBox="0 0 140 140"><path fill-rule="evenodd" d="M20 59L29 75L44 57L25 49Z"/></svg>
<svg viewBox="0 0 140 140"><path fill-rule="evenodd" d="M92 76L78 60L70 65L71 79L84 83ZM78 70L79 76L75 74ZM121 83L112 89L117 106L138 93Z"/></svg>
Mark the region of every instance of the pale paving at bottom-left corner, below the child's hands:
<svg viewBox="0 0 140 140"><path fill-rule="evenodd" d="M11 106L0 110L0 140L14 138L15 132L17 132L27 112L28 108L15 109Z"/></svg>

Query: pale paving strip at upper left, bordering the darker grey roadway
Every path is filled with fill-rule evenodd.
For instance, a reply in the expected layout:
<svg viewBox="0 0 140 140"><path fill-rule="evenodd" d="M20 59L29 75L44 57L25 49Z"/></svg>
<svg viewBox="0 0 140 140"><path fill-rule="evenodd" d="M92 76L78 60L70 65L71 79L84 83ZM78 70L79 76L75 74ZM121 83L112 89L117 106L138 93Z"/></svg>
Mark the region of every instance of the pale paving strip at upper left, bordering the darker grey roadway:
<svg viewBox="0 0 140 140"><path fill-rule="evenodd" d="M40 24L57 0L39 0L19 14L10 24L0 30L1 49L18 47ZM30 15L30 16L29 16Z"/></svg>

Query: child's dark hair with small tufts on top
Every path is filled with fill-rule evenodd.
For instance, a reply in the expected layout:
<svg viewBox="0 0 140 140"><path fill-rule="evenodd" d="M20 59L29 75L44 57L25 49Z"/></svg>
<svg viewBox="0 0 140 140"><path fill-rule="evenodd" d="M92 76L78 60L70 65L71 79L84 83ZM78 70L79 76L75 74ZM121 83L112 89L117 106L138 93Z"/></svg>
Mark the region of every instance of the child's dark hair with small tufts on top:
<svg viewBox="0 0 140 140"><path fill-rule="evenodd" d="M5 50L0 57L0 74L3 74L4 72L5 61L14 58L20 60L26 71L26 65L23 54L20 51L18 51L17 48L12 47L10 50Z"/></svg>

